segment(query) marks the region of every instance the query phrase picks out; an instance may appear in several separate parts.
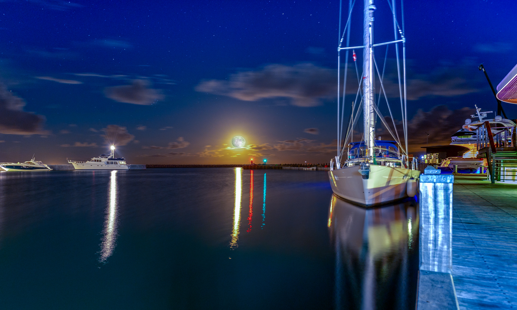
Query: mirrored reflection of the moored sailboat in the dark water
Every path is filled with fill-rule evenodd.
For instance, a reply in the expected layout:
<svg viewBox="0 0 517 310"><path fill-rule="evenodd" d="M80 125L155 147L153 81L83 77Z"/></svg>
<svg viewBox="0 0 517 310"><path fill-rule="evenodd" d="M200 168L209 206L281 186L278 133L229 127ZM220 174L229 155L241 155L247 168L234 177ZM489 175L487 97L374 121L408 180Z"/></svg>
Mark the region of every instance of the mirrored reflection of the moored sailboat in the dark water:
<svg viewBox="0 0 517 310"><path fill-rule="evenodd" d="M336 309L414 309L418 205L363 208L336 195L328 227L336 251Z"/></svg>

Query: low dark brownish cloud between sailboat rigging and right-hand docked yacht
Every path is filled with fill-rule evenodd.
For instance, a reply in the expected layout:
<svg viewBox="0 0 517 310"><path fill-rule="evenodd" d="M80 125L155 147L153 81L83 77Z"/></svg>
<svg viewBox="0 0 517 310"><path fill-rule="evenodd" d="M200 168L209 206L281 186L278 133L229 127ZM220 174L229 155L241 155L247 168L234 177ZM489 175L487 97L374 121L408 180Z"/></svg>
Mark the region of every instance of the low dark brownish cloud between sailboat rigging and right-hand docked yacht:
<svg viewBox="0 0 517 310"><path fill-rule="evenodd" d="M418 109L415 116L407 123L409 152L424 152L421 146L427 145L427 134L429 134L429 145L451 143L451 135L460 130L465 119L471 118L470 115L475 113L476 109L467 107L452 111L446 105L434 106L427 112ZM387 123L391 125L391 121ZM402 138L402 123L396 124L399 136ZM387 130L383 130L378 135L391 137ZM404 142L401 141L401 143Z"/></svg>

